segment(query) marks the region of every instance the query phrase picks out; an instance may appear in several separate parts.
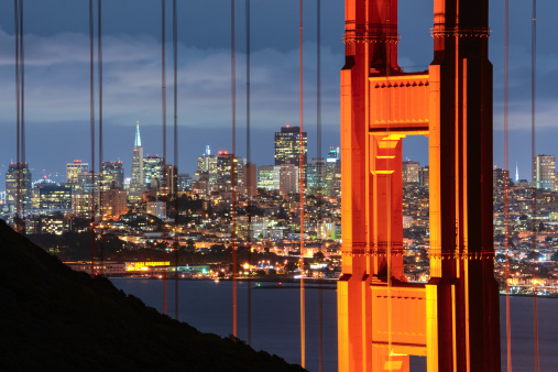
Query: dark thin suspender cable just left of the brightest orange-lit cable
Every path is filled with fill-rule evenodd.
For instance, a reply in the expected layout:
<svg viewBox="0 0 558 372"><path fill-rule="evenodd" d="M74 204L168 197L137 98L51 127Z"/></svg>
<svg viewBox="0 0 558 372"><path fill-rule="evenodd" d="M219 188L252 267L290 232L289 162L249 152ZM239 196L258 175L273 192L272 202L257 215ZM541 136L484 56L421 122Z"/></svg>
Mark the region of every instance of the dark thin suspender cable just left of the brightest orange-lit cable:
<svg viewBox="0 0 558 372"><path fill-rule="evenodd" d="M252 167L252 157L250 154L250 0L247 0L247 167L248 172L251 171ZM249 177L251 179L251 177ZM252 180L252 179L251 179ZM252 185L248 185L248 264L252 263L252 243L251 237L252 233L252 195L251 188ZM252 280L251 272L249 272L248 276L248 344L252 344Z"/></svg>

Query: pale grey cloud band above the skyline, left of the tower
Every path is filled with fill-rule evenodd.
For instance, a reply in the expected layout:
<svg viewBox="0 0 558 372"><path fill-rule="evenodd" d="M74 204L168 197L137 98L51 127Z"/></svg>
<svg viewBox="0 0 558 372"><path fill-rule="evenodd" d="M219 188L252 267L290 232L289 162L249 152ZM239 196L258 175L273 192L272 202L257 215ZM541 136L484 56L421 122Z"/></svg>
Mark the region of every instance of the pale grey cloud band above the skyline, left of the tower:
<svg viewBox="0 0 558 372"><path fill-rule="evenodd" d="M0 107L14 112L13 36L0 31ZM314 103L315 43L305 46L305 86ZM122 124L142 117L161 121L161 45L151 36L103 37L103 112ZM342 56L322 48L326 124L338 122ZM166 55L167 102L172 102L172 46ZM89 118L89 41L84 34L25 36L25 102L30 121ZM95 66L97 76L97 66ZM245 106L245 55L237 54L239 119ZM97 79L97 77L96 77ZM178 45L178 110L182 124L228 127L231 105L230 51ZM259 124L278 125L298 118L298 51L265 48L251 55L251 107ZM97 81L96 81L97 84ZM314 85L314 87L313 87ZM96 88L97 89L97 88ZM95 98L97 100L97 97ZM315 105L315 103L314 103ZM310 112L310 111L308 111ZM13 113L14 114L14 113ZM313 118L313 114L309 114ZM325 116L326 117L326 116Z"/></svg>

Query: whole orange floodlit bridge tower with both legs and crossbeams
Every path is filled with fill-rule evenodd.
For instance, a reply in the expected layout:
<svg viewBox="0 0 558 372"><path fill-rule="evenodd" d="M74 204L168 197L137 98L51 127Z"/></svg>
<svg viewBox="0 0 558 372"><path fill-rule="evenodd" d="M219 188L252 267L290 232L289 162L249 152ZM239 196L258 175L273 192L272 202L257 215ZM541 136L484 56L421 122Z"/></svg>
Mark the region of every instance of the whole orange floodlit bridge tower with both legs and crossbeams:
<svg viewBox="0 0 558 372"><path fill-rule="evenodd" d="M397 64L397 0L346 0L339 371L500 371L488 0L434 0L428 70ZM430 278L403 273L402 139L429 142Z"/></svg>

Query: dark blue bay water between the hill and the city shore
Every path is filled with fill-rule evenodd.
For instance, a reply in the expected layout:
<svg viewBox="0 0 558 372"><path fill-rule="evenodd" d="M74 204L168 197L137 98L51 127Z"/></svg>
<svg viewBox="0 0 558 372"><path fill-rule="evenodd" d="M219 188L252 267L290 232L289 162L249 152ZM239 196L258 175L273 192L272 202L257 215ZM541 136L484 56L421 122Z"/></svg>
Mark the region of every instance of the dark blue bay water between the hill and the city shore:
<svg viewBox="0 0 558 372"><path fill-rule="evenodd" d="M127 294L163 311L163 281L151 278L111 278ZM238 335L248 342L249 282L239 281ZM319 293L322 309L322 371L337 365L337 291L335 284L321 289L307 283L306 368L319 371ZM250 283L251 346L277 354L291 363L300 363L300 291L296 284ZM535 370L533 297L511 297L512 362L514 371ZM558 371L558 298L538 297L540 371ZM506 370L505 297L501 296L502 370ZM175 317L175 281L167 281L167 314ZM203 332L227 337L232 333L232 282L179 281L178 320ZM411 371L426 371L426 358L412 357Z"/></svg>

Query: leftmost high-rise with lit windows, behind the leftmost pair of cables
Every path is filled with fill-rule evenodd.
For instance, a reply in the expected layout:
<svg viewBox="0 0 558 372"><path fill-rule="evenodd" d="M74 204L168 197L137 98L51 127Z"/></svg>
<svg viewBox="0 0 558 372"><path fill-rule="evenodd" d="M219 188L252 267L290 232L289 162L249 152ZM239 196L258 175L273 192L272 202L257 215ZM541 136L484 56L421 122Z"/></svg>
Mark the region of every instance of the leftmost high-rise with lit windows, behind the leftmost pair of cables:
<svg viewBox="0 0 558 372"><path fill-rule="evenodd" d="M15 211L18 198L22 208L31 199L31 172L28 163L10 163L6 172L6 204L11 211Z"/></svg>

